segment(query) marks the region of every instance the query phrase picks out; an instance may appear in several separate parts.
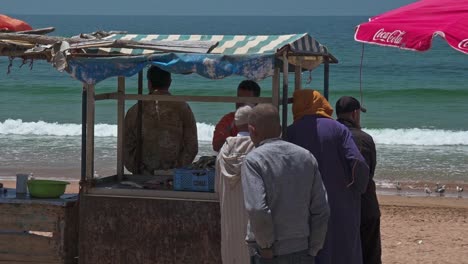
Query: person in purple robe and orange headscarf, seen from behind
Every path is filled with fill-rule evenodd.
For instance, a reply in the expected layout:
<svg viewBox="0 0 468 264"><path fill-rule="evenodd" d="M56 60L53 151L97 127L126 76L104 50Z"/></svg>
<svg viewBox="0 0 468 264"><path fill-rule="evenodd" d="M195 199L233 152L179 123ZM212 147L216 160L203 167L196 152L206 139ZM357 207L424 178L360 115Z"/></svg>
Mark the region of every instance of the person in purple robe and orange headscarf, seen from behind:
<svg viewBox="0 0 468 264"><path fill-rule="evenodd" d="M369 167L351 132L333 120L332 113L333 108L319 92L296 90L294 123L286 138L315 156L327 190L330 220L316 263L362 264L361 194L367 188Z"/></svg>

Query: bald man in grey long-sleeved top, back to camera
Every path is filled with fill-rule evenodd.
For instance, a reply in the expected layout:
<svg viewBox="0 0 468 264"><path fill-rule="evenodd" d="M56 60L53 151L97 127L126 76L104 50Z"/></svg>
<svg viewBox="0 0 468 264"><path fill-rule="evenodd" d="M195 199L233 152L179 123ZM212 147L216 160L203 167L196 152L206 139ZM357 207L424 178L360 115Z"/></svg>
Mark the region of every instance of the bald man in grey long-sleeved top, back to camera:
<svg viewBox="0 0 468 264"><path fill-rule="evenodd" d="M317 161L281 140L278 110L257 105L249 115L256 148L242 165L252 263L314 263L327 232L329 207Z"/></svg>

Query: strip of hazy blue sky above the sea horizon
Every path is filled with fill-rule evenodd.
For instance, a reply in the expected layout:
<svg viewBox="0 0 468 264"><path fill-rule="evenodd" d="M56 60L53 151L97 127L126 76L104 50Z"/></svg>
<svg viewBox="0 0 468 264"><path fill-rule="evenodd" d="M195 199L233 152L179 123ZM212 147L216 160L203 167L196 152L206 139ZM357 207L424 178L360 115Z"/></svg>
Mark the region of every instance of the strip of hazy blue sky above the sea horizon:
<svg viewBox="0 0 468 264"><path fill-rule="evenodd" d="M2 1L7 15L376 15L416 0L43 0Z"/></svg>

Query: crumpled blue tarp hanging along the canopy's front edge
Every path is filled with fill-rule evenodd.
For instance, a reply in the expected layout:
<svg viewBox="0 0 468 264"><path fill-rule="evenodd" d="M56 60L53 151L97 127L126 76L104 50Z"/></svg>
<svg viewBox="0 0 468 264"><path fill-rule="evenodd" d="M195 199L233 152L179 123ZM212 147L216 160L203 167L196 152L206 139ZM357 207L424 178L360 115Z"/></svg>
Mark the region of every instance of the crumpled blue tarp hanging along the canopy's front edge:
<svg viewBox="0 0 468 264"><path fill-rule="evenodd" d="M261 80L273 75L274 55L167 53L150 57L75 58L68 61L73 78L87 84L96 84L115 76L130 77L147 65L156 65L177 74L197 73L209 79L240 75Z"/></svg>

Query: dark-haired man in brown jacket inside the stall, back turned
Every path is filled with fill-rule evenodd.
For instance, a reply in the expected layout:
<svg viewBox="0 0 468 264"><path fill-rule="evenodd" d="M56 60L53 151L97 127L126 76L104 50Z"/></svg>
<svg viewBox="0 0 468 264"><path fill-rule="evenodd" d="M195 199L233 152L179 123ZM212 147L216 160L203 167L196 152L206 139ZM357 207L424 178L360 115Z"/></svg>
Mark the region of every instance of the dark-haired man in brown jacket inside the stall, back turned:
<svg viewBox="0 0 468 264"><path fill-rule="evenodd" d="M150 94L170 95L171 74L156 66L148 69ZM143 101L141 163L137 164L138 106L125 116L125 167L132 173L154 174L187 166L198 153L197 125L185 102Z"/></svg>

